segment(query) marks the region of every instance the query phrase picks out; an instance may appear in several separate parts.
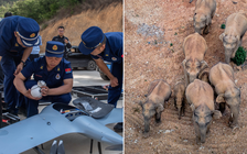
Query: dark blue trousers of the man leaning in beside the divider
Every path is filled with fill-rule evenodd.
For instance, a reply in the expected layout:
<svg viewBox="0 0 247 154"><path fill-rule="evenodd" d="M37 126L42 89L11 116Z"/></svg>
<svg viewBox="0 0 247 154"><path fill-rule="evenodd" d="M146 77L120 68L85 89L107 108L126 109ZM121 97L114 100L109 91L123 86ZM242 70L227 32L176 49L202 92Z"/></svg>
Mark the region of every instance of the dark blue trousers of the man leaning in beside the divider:
<svg viewBox="0 0 247 154"><path fill-rule="evenodd" d="M122 90L122 63L112 63L110 67L110 73L118 79L118 86L108 88L108 103L117 106L117 101L121 96Z"/></svg>

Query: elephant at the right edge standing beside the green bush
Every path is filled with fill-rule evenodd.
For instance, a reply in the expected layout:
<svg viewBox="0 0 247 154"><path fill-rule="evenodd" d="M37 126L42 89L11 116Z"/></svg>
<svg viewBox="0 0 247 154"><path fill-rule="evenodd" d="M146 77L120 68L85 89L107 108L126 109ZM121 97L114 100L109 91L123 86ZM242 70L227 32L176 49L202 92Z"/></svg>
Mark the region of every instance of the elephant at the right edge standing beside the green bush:
<svg viewBox="0 0 247 154"><path fill-rule="evenodd" d="M244 13L233 13L226 19L226 29L219 35L225 48L225 62L229 64L230 58L235 57L238 47L241 45L241 38L247 31L247 19Z"/></svg>

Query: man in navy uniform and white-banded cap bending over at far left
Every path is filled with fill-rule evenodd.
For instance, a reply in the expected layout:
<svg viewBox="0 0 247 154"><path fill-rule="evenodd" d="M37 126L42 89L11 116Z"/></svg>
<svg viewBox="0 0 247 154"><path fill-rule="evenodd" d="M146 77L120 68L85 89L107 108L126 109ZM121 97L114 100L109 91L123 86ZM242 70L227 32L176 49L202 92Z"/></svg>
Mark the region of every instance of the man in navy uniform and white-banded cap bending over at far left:
<svg viewBox="0 0 247 154"><path fill-rule="evenodd" d="M32 46L39 45L40 26L35 20L23 16L8 16L0 23L0 56L4 74L4 101L8 110L17 114L18 91L13 85L18 75L32 52Z"/></svg>

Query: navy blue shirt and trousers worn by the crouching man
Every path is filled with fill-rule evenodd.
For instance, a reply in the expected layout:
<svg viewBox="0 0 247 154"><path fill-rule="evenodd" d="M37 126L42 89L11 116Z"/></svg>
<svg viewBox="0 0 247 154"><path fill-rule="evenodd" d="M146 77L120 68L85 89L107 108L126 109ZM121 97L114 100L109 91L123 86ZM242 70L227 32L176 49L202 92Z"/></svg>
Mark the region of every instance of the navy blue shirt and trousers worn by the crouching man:
<svg viewBox="0 0 247 154"><path fill-rule="evenodd" d="M31 89L32 86L36 85L39 80L44 80L49 88L57 88L64 85L64 79L73 78L71 63L62 58L61 63L47 72L45 57L40 57L30 63L21 72L25 78L30 78L34 74L34 80L25 81L25 88ZM46 96L41 100L50 100L52 102L69 103L72 97L71 94L60 96ZM28 117L37 114L39 100L25 99L28 105Z"/></svg>

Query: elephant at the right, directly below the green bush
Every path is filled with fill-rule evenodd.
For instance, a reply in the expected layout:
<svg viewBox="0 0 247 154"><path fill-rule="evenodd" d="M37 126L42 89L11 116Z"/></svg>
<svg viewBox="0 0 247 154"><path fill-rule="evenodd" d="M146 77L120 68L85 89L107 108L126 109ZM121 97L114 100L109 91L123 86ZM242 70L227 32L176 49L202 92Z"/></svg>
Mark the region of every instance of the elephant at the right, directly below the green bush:
<svg viewBox="0 0 247 154"><path fill-rule="evenodd" d="M215 87L218 95L216 102L219 103L222 113L225 111L225 105L230 109L229 127L238 127L238 114L240 105L240 90L235 85L234 70L228 64L218 63L211 68L210 81Z"/></svg>

